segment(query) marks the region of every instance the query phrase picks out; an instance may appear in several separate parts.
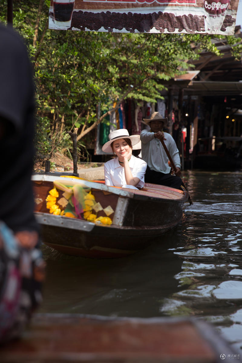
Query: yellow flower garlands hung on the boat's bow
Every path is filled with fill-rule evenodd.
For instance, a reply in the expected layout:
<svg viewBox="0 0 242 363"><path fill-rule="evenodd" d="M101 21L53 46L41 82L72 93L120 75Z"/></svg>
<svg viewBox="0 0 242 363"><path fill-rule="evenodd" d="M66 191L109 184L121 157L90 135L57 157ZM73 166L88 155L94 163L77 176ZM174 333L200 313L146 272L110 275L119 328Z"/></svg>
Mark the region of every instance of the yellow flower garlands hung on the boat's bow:
<svg viewBox="0 0 242 363"><path fill-rule="evenodd" d="M75 212L71 212L69 210L65 211L65 207L69 203L67 199L63 197L57 201L59 197L59 192L56 187L49 191L48 196L46 197L46 208L49 209L49 212L54 215L61 215L70 218L77 218ZM69 195L70 198L70 195ZM101 204L96 203L94 195L91 193L86 193L84 196L84 204L85 208L83 208L83 218L89 222L94 222L97 224L111 225L112 220L110 217L97 217L97 214L92 213L93 209L97 213L99 210L102 210ZM84 205L83 205L84 207ZM100 208L101 207L101 208ZM107 208L106 208L107 209Z"/></svg>

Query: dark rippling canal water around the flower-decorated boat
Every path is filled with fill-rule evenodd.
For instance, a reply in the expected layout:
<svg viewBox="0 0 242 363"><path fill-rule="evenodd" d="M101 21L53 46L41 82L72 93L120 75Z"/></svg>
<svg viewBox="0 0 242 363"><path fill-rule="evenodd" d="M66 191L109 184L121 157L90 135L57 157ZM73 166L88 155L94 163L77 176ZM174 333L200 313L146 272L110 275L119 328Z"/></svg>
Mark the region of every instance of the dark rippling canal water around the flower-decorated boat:
<svg viewBox="0 0 242 363"><path fill-rule="evenodd" d="M242 353L242 171L184 171L193 205L160 241L91 260L42 245L40 313L205 319Z"/></svg>

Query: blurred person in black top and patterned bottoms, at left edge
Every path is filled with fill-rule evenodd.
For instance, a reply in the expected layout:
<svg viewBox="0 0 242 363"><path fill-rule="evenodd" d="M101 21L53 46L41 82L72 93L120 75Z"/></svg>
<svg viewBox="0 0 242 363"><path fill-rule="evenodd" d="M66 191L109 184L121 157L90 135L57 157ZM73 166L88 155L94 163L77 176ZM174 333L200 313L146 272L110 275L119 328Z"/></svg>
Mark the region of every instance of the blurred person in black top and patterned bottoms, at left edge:
<svg viewBox="0 0 242 363"><path fill-rule="evenodd" d="M41 302L44 261L33 213L34 87L26 46L0 24L0 343Z"/></svg>

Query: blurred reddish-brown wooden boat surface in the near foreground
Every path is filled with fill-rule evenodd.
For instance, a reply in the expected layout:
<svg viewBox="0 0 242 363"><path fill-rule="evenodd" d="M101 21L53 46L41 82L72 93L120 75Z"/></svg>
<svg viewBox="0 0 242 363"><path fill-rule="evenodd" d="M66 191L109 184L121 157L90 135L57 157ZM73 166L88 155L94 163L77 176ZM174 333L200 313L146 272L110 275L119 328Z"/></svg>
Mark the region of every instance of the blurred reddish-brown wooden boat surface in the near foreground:
<svg viewBox="0 0 242 363"><path fill-rule="evenodd" d="M1 363L216 363L240 355L201 319L35 314L0 356Z"/></svg>

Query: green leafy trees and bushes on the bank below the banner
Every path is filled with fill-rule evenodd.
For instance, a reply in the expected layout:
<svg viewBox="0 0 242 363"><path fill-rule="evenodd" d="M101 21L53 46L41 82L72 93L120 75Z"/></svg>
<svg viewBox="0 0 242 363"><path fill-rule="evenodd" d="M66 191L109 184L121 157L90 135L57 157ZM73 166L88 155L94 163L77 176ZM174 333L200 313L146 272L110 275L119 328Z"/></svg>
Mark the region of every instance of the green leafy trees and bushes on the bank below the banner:
<svg viewBox="0 0 242 363"><path fill-rule="evenodd" d="M35 72L36 148L46 158L57 149L71 154L66 132L78 127L78 140L91 135L98 122L107 122L105 113L114 102L130 97L156 102L164 81L192 67L188 60L203 50L219 55L212 37L203 34L50 30L49 3L13 2L13 26L28 45ZM7 0L1 1L0 14L6 24ZM217 37L226 40L235 57L240 56L242 45L235 37ZM78 146L83 154L85 144L78 141Z"/></svg>

